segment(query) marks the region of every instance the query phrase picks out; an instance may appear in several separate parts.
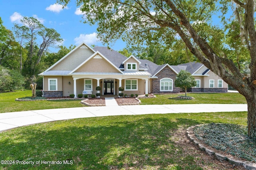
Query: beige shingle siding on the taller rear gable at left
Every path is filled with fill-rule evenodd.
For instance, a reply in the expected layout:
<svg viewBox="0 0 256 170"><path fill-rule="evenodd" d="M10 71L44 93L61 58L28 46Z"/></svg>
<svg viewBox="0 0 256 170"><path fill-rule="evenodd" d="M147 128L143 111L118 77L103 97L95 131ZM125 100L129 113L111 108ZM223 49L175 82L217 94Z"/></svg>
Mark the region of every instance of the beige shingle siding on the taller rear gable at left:
<svg viewBox="0 0 256 170"><path fill-rule="evenodd" d="M51 70L74 70L92 54L94 54L94 52L90 49L76 49L76 51L71 53Z"/></svg>

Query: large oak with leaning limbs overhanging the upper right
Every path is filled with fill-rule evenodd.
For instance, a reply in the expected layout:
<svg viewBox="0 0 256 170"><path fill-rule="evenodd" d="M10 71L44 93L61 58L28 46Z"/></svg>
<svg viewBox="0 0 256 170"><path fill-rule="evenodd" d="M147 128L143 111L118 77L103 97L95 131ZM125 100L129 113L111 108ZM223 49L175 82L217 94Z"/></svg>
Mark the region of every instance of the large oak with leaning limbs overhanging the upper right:
<svg viewBox="0 0 256 170"><path fill-rule="evenodd" d="M70 0L57 1L66 5ZM105 43L122 37L130 44L161 40L168 45L182 39L200 62L246 98L248 135L256 139L255 0L78 0L77 5L85 22L98 25L98 38ZM225 18L230 12L236 17ZM213 22L217 15L221 25ZM237 36L228 26L232 23L240 28ZM238 39L240 47L234 43ZM239 68L241 57L248 59L250 74Z"/></svg>

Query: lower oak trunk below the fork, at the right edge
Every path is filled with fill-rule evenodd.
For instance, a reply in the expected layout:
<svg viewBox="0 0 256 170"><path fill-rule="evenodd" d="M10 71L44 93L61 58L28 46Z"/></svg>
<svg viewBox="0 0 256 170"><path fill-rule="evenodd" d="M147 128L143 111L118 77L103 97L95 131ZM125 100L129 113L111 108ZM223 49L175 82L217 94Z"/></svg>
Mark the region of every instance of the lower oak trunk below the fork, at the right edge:
<svg viewBox="0 0 256 170"><path fill-rule="evenodd" d="M246 100L248 105L248 136L256 140L256 94L254 93L254 97L246 98Z"/></svg>

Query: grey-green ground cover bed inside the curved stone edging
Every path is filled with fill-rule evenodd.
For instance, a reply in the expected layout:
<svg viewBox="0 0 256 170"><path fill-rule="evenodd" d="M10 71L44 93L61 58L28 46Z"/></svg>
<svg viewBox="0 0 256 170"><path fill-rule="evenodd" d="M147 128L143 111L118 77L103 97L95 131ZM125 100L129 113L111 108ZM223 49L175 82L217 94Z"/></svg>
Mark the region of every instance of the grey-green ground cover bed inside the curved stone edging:
<svg viewBox="0 0 256 170"><path fill-rule="evenodd" d="M214 149L256 163L256 141L247 136L246 126L210 123L196 127L194 134Z"/></svg>

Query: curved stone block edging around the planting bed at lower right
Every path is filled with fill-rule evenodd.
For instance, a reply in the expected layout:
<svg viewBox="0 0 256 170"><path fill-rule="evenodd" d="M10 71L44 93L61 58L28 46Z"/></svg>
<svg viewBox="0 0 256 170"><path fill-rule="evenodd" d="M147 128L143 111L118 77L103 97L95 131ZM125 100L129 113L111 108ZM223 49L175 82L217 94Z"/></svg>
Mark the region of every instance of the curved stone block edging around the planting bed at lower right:
<svg viewBox="0 0 256 170"><path fill-rule="evenodd" d="M202 126L202 125L208 125L208 124L195 125L195 126L188 127L188 129L186 129L186 135L187 135L188 139L194 143L194 145L198 146L198 148L200 150L205 151L206 154L208 154L210 156L215 156L215 158L217 160L228 161L230 164L236 165L236 166L244 166L244 168L246 168L247 170L256 170L255 163L248 162L248 161L242 161L242 160L236 160L229 156L214 152L213 150L210 149L210 147L205 146L202 143L200 143L200 141L194 135L194 128L197 126Z"/></svg>

